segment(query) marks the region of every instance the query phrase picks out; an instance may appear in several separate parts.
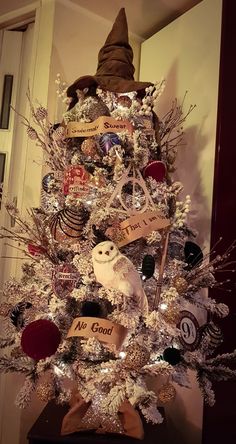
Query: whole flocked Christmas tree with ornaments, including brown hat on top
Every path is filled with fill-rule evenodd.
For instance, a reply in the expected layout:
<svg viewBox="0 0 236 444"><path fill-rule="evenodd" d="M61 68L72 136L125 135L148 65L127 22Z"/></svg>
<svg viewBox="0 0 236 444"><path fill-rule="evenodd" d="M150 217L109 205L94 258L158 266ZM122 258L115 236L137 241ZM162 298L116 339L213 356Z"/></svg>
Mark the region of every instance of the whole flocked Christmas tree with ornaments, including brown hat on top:
<svg viewBox="0 0 236 444"><path fill-rule="evenodd" d="M42 401L70 402L62 434L142 438L142 421L162 422L158 407L174 398L173 384L189 387L188 369L210 405L212 381L235 377L225 366L235 352L212 356L222 342L216 318L228 308L201 295L216 285L230 249L208 263L187 226L190 198L178 200L182 185L171 177L193 107L184 113L174 101L157 118L163 82L134 81L132 57L121 9L96 74L68 88L60 125L28 94L33 124L24 123L49 172L41 207L27 220L6 204L16 228L1 237L28 260L21 281L4 285L0 346L10 352L0 369L25 374L19 407L34 391ZM199 326L191 304L211 321ZM146 378L159 376L154 392Z"/></svg>

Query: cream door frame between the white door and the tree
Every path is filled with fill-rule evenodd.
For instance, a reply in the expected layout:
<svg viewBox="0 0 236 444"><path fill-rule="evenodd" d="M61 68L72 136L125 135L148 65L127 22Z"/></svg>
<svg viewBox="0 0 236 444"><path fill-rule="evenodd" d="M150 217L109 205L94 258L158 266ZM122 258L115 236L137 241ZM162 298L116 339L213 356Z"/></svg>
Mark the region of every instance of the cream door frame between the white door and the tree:
<svg viewBox="0 0 236 444"><path fill-rule="evenodd" d="M36 99L47 107L48 102L48 89L50 80L50 60L52 52L52 42L53 42L53 29L54 29L54 12L55 12L55 0L40 0L34 2L28 6L16 9L7 14L0 16L0 37L3 29L11 30L18 25L26 24L34 21L34 37L32 45L32 62L30 69L30 79L29 85L32 94L32 100ZM29 116L26 116L29 117ZM29 119L30 120L30 119ZM26 171L24 187L34 187L33 199L31 202L22 201L20 211L24 213L27 207L36 207L40 203L40 189L41 189L41 177L42 177L42 164L43 164L43 153L39 150L37 151L37 160L39 165L35 167L33 164L31 149L35 149L34 142L30 139L26 141L26 158L28 157L27 168L34 169L34 172ZM29 160L30 159L30 160ZM41 159L41 161L40 161ZM40 166L41 165L41 166ZM35 174L36 171L36 174ZM32 184L32 176L35 182ZM9 423L7 427L10 429L9 411L13 408L12 396L9 398L9 388L14 384L14 375L1 375L0 380L0 395L2 402L0 403L0 416L2 418L2 424L4 422ZM19 384L16 389L19 389ZM6 399L8 402L6 403ZM5 404L5 406L4 406ZM4 407L7 407L8 411L5 411ZM18 415L19 428L15 431L17 443L20 442L20 423L21 423L21 412L20 410L15 411L14 415ZM1 424L0 424L1 426ZM2 433L3 428L0 427L0 440L3 438ZM4 435L4 444L10 444L7 436Z"/></svg>

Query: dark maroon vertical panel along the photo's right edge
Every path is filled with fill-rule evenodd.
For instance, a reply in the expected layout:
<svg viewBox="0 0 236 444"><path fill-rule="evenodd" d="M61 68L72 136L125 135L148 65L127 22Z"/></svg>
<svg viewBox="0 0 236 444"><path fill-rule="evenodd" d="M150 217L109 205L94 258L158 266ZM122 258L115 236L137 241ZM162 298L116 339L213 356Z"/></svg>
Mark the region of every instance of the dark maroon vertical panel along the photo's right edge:
<svg viewBox="0 0 236 444"><path fill-rule="evenodd" d="M223 0L222 34L220 55L220 78L218 95L218 116L216 129L215 170L213 186L211 248L220 237L217 253L222 254L235 242L236 215L236 149L235 149L235 103L236 103L236 53L235 39L236 3ZM236 250L229 260L236 261ZM232 264L231 269L235 269ZM224 335L224 343L219 353L229 353L236 349L236 273L220 273L219 281L230 279L223 290L210 289L209 295L217 302L224 302L230 308L229 316L219 323ZM228 292L231 290L231 292ZM235 366L234 366L235 369ZM236 442L236 381L223 381L214 384L216 403L213 407L204 406L203 444L234 444Z"/></svg>

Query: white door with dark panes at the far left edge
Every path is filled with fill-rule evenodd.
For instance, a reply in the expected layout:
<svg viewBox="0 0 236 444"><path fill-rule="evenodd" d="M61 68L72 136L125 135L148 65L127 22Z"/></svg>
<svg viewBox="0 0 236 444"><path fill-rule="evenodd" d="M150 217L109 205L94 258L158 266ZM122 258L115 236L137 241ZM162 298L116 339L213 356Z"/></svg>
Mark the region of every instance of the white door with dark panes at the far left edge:
<svg viewBox="0 0 236 444"><path fill-rule="evenodd" d="M26 90L31 73L33 32L34 24L28 25L24 32L4 30L0 54L0 109L4 109L4 116L1 114L0 122L3 121L3 126L8 126L8 128L0 129L0 160L2 160L0 168L5 159L0 226L9 228L13 226L14 222L5 211L4 200L15 201L17 207L22 209L28 141L25 127L21 124L22 119L13 110L10 110L9 125L7 125L7 109L1 104L3 104L4 97L7 101L7 93L9 92L6 91L5 86L4 95L4 80L6 85L9 76L13 76L11 105L18 112L29 117ZM8 77L6 78L6 76ZM1 173L3 175L3 171L0 171ZM21 260L17 259L19 257L17 250L6 246L3 241L0 244L0 253L0 289L2 289L3 282L10 276L19 275ZM14 399L20 389L21 382L18 375L0 376L1 444L17 444L19 442L21 412L15 407Z"/></svg>

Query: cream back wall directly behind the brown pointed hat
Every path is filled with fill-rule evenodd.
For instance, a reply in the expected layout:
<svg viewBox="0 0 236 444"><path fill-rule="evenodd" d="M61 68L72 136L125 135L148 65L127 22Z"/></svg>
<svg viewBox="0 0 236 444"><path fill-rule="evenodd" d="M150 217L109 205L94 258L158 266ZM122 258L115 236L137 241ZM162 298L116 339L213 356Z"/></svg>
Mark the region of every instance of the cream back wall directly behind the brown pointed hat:
<svg viewBox="0 0 236 444"><path fill-rule="evenodd" d="M114 9L114 19L117 13L118 10ZM129 17L127 19L129 20ZM68 85L80 76L95 74L98 52L111 27L112 22L75 5L70 0L56 1L49 85L49 110L54 121L61 119L61 108L56 103L57 73L61 74L63 81ZM137 76L140 41L132 35L129 38Z"/></svg>

